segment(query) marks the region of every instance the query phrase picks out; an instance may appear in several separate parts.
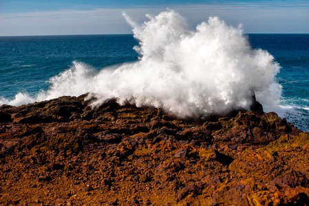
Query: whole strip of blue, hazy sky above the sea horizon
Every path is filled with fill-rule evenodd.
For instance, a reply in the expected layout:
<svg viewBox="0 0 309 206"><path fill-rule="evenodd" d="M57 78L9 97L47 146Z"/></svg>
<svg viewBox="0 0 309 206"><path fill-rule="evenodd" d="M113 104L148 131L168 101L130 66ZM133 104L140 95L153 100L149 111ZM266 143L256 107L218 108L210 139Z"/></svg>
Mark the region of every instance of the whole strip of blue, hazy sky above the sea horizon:
<svg viewBox="0 0 309 206"><path fill-rule="evenodd" d="M122 12L142 24L167 8L192 30L218 16L248 34L309 34L308 0L0 0L0 36L131 34Z"/></svg>

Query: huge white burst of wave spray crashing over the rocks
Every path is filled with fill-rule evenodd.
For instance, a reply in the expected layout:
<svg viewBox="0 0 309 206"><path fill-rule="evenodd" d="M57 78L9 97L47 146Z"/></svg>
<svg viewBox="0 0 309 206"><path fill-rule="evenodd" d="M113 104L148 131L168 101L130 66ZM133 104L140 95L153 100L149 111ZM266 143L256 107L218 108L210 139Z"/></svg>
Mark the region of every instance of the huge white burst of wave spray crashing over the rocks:
<svg viewBox="0 0 309 206"><path fill-rule="evenodd" d="M155 106L184 117L249 108L254 91L264 111L279 106L281 86L275 78L279 65L268 52L251 48L241 26L231 27L210 17L189 30L173 10L147 15L149 20L142 25L124 16L139 41L134 47L140 54L138 61L100 71L74 62L50 79L50 89L36 98L29 97L27 102L26 94L18 94L0 104L89 93L87 98L96 97L92 106L117 98L120 104Z"/></svg>

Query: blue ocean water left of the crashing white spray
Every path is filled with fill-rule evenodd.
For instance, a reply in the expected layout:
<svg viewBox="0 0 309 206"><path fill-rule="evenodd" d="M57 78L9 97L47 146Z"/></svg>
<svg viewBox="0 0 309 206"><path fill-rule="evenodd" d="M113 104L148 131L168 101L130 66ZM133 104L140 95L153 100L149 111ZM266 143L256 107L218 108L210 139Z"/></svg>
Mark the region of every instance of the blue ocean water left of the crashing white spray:
<svg viewBox="0 0 309 206"><path fill-rule="evenodd" d="M48 80L85 62L95 69L138 59L133 35L0 36L0 98L47 90Z"/></svg>

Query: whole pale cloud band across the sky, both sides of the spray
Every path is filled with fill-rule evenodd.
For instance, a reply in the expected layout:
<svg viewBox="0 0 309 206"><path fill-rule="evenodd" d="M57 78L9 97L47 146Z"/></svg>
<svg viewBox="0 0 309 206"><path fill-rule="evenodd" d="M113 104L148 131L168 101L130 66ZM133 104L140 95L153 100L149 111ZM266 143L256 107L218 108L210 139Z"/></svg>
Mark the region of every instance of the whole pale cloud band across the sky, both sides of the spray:
<svg viewBox="0 0 309 206"><path fill-rule="evenodd" d="M209 16L219 16L226 23L244 24L248 33L309 33L308 4L234 3L229 5L171 5L170 9L187 18L193 29ZM0 36L54 34L126 34L131 27L121 12L142 23L145 14L156 15L164 6L125 9L58 10L0 14Z"/></svg>

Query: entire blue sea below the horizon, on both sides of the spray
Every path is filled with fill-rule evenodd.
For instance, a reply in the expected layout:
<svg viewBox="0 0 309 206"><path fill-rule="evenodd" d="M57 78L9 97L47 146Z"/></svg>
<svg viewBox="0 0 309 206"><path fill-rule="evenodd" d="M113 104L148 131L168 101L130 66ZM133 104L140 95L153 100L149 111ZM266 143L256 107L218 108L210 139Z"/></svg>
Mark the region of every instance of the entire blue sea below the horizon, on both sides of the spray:
<svg viewBox="0 0 309 206"><path fill-rule="evenodd" d="M281 69L280 109L288 122L309 130L309 34L248 34L255 49L267 50ZM100 70L138 60L132 34L82 36L1 36L0 104L17 93L35 97L47 91L50 78L83 62Z"/></svg>

